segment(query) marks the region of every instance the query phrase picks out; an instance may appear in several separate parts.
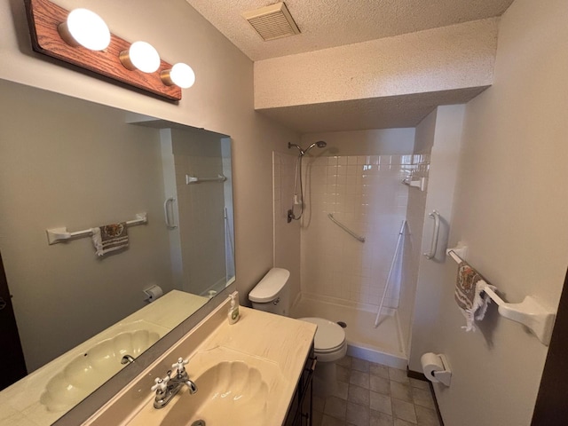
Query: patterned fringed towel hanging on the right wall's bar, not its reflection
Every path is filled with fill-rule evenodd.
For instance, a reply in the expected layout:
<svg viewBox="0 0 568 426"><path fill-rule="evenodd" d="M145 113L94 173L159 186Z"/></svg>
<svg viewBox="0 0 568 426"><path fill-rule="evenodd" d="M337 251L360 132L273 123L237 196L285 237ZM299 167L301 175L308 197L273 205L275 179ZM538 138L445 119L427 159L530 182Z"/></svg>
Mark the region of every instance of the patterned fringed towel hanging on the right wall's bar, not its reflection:
<svg viewBox="0 0 568 426"><path fill-rule="evenodd" d="M465 331L476 331L475 321L484 319L487 304L491 302L484 291L487 287L496 289L467 262L461 262L455 282L454 298L466 319L466 325L461 327L465 328Z"/></svg>

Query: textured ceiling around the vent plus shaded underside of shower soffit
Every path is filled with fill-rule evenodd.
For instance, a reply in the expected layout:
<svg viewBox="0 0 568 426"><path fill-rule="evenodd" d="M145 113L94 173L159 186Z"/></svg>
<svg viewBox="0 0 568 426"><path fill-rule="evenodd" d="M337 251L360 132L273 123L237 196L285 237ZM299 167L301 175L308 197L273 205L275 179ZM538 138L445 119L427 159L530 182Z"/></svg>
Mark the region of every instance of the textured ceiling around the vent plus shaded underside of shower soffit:
<svg viewBox="0 0 568 426"><path fill-rule="evenodd" d="M302 32L264 42L242 18L277 0L186 0L248 58L259 61L500 16L513 0L285 0ZM404 52L401 52L404 54ZM486 87L258 109L290 129L414 127L439 105L465 103Z"/></svg>

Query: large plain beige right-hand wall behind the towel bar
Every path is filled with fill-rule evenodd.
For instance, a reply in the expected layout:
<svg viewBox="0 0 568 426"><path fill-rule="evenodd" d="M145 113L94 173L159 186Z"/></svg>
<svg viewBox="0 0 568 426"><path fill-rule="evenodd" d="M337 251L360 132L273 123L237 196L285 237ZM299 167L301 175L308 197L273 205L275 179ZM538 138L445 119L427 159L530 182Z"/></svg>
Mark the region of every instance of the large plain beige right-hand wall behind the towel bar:
<svg viewBox="0 0 568 426"><path fill-rule="evenodd" d="M493 87L466 107L449 241L468 244L469 262L509 302L533 295L554 309L568 252L567 20L564 0L517 0L501 18ZM477 333L461 330L455 272L446 260L446 291L423 307L439 304L422 338L453 369L449 388L435 386L444 421L528 425L548 348L494 307Z"/></svg>

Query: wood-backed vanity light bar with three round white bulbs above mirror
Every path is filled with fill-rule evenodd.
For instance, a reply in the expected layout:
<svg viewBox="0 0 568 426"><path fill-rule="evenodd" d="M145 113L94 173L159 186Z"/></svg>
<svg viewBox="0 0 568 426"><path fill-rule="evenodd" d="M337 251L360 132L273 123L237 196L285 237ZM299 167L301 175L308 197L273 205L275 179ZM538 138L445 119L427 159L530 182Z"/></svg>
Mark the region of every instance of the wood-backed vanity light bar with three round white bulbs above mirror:
<svg viewBox="0 0 568 426"><path fill-rule="evenodd" d="M185 64L172 66L160 59L157 51L148 43L130 43L114 36L110 31L108 31L110 40L102 50L93 50L93 47L95 49L100 47L98 44L90 45L91 48L84 47L82 42L77 41L71 34L72 28L69 28L71 24L67 22L70 12L49 0L25 0L25 4L34 51L170 100L181 99L181 88L190 87L195 80L191 67ZM91 13L98 17L95 13ZM94 20L97 21L96 18ZM104 21L103 25L106 26ZM104 34L104 27L101 28ZM131 57L131 48L147 49L148 46L154 49L154 51L146 50L149 52L146 53L147 58L154 60L154 64L147 68L140 67ZM176 71L180 68L185 73L181 80Z"/></svg>

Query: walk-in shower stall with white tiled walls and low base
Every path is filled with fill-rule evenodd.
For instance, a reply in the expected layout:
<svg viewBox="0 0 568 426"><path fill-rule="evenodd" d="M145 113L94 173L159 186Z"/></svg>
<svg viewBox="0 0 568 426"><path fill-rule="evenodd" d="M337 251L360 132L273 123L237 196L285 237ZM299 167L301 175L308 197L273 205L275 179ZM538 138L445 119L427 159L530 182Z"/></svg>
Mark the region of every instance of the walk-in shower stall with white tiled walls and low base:
<svg viewBox="0 0 568 426"><path fill-rule="evenodd" d="M322 141L312 146L326 147ZM416 264L409 261L417 242L408 226L402 227L394 255L409 194L420 192L403 181L411 174L427 177L429 160L427 154L413 154L413 147L414 132L406 154L341 154L329 140L326 149L305 156L299 146L300 156L273 153L274 265L299 269L291 316L344 323L349 354L399 368L407 364L414 304L405 288ZM297 181L298 169L302 182ZM300 202L304 209L297 206L295 212L302 217L287 224L290 206ZM289 235L295 226L296 264L292 255L276 249L296 244Z"/></svg>

